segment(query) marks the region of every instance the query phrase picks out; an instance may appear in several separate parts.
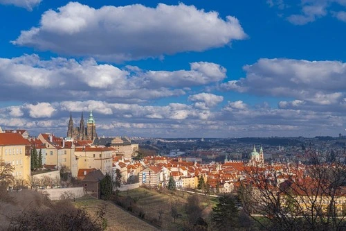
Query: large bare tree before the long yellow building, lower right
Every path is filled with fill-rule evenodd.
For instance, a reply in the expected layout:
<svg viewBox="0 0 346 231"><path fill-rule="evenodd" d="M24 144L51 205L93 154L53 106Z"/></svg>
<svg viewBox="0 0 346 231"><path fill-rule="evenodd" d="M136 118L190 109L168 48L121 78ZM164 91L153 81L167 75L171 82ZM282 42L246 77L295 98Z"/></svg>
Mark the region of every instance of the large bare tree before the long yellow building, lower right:
<svg viewBox="0 0 346 231"><path fill-rule="evenodd" d="M244 212L269 229L345 229L345 164L335 153L333 161L311 149L306 155L306 164L248 169L239 187Z"/></svg>

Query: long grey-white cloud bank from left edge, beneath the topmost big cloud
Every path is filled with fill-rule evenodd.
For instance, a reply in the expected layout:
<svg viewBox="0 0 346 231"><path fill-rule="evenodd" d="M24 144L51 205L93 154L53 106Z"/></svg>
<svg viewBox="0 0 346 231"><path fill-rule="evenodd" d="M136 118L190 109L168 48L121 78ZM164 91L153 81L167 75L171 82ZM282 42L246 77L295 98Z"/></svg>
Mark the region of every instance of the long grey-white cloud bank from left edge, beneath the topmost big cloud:
<svg viewBox="0 0 346 231"><path fill-rule="evenodd" d="M51 58L38 55L0 58L1 100L114 99L147 101L181 96L193 86L217 83L226 69L212 62L192 62L190 70L151 71L139 67L120 69L89 58ZM19 94L25 89L26 95ZM37 98L36 91L40 95Z"/></svg>

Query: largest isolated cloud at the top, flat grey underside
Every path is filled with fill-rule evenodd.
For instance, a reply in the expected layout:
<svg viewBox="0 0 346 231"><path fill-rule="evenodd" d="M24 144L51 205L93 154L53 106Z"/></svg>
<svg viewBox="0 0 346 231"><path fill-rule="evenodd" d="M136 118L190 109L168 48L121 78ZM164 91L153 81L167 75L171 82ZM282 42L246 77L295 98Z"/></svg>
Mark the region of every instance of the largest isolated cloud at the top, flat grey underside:
<svg viewBox="0 0 346 231"><path fill-rule="evenodd" d="M227 16L224 20L217 12L205 12L183 3L159 3L156 8L135 4L95 9L70 2L57 11L44 12L39 27L21 31L12 43L122 62L205 51L244 38L246 34L235 17Z"/></svg>

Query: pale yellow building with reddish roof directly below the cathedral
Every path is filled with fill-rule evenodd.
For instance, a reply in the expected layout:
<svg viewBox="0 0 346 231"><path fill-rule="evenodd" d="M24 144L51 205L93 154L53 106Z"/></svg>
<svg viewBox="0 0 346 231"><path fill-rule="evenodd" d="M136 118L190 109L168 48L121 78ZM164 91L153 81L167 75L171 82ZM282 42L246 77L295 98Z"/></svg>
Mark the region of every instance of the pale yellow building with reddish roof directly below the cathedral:
<svg viewBox="0 0 346 231"><path fill-rule="evenodd" d="M103 174L112 171L112 148L75 148L78 169L100 169Z"/></svg>

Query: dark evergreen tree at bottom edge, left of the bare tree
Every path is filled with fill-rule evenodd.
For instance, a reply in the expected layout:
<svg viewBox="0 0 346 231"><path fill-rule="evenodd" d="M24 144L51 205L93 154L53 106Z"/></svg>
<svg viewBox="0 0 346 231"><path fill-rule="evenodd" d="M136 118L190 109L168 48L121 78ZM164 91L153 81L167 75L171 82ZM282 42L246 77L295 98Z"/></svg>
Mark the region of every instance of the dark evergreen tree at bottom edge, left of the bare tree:
<svg viewBox="0 0 346 231"><path fill-rule="evenodd" d="M219 196L219 203L212 212L212 222L217 230L235 230L239 226L238 208L231 196Z"/></svg>

